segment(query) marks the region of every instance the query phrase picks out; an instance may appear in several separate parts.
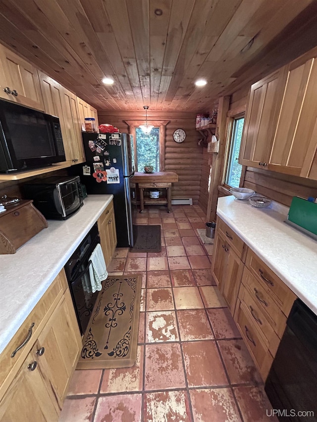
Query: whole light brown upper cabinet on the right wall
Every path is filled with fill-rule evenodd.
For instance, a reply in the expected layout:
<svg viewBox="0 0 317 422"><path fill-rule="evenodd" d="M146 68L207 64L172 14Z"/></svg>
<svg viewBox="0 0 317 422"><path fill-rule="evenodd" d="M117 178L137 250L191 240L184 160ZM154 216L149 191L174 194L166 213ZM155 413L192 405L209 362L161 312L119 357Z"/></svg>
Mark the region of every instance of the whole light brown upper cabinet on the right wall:
<svg viewBox="0 0 317 422"><path fill-rule="evenodd" d="M317 180L317 48L252 85L239 162Z"/></svg>

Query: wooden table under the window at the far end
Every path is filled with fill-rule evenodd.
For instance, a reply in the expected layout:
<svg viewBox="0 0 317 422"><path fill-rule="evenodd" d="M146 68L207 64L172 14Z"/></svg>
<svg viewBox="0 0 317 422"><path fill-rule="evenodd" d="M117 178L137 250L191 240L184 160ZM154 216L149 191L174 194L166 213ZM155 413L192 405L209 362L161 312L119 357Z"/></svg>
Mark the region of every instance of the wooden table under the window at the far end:
<svg viewBox="0 0 317 422"><path fill-rule="evenodd" d="M167 212L171 212L171 186L173 182L178 182L178 175L174 172L155 172L155 173L135 173L130 179L140 190L140 213L145 205L164 205L167 204ZM144 189L165 188L166 198L144 198Z"/></svg>

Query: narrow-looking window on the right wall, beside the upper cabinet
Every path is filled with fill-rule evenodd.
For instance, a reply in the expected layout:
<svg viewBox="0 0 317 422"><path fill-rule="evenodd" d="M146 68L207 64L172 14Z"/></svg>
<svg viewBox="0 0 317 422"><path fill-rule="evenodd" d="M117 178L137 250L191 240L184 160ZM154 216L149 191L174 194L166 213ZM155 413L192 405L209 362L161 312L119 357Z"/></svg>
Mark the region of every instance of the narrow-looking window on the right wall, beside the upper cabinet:
<svg viewBox="0 0 317 422"><path fill-rule="evenodd" d="M242 139L244 117L233 119L229 158L225 183L233 188L238 188L240 183L242 165L238 163Z"/></svg>

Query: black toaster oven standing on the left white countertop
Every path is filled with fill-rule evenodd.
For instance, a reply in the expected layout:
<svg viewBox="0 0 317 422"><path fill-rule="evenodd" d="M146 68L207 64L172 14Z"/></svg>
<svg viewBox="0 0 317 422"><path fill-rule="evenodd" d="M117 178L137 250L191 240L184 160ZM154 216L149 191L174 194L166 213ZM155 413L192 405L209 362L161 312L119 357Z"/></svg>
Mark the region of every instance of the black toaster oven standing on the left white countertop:
<svg viewBox="0 0 317 422"><path fill-rule="evenodd" d="M21 186L24 199L48 220L66 220L83 205L79 176L50 176Z"/></svg>

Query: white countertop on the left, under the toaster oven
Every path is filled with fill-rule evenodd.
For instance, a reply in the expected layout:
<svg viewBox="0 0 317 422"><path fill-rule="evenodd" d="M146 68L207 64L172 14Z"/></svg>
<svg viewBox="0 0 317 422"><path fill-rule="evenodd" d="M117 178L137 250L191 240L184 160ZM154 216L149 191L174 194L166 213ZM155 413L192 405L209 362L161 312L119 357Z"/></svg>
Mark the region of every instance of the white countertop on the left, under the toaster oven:
<svg viewBox="0 0 317 422"><path fill-rule="evenodd" d="M68 220L48 220L15 254L0 255L0 353L112 198L89 195Z"/></svg>

